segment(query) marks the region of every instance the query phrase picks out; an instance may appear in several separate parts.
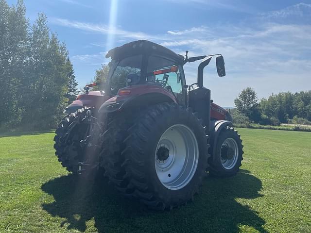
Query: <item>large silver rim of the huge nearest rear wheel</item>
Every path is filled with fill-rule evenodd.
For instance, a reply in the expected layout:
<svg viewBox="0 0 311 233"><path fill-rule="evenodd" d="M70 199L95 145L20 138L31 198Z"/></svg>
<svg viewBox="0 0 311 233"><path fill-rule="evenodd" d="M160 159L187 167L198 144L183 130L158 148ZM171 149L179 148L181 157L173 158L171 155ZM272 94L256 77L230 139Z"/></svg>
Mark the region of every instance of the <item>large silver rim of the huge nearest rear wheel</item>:
<svg viewBox="0 0 311 233"><path fill-rule="evenodd" d="M161 150L168 151L165 158L160 156ZM173 125L162 134L157 143L156 175L166 188L181 189L191 181L198 159L199 146L194 133L186 125Z"/></svg>

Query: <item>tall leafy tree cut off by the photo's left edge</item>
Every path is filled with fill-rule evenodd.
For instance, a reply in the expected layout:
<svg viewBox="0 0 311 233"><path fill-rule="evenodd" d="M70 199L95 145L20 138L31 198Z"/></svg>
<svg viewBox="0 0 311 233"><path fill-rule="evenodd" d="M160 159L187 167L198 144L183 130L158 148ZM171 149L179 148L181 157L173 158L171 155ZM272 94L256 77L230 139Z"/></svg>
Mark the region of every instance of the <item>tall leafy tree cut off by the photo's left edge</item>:
<svg viewBox="0 0 311 233"><path fill-rule="evenodd" d="M22 0L9 7L0 0L0 125L18 119L21 77L25 75L28 52L28 20Z"/></svg>

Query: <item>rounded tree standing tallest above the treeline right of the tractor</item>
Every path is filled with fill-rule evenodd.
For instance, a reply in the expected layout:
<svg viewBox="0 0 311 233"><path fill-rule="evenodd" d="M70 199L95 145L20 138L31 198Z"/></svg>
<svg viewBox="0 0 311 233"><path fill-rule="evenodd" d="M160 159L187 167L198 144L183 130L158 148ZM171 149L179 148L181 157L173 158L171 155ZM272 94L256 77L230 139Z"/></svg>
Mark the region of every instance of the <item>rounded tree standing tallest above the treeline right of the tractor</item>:
<svg viewBox="0 0 311 233"><path fill-rule="evenodd" d="M238 98L234 100L235 106L238 111L251 120L258 120L258 98L256 92L247 87L239 94Z"/></svg>

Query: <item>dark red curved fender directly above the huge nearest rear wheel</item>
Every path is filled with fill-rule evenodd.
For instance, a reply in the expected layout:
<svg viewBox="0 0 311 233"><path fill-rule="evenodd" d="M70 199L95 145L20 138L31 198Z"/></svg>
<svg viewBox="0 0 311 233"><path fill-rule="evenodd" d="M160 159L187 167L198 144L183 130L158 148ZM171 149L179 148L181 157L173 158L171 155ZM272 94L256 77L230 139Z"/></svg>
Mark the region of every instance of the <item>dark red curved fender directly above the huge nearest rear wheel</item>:
<svg viewBox="0 0 311 233"><path fill-rule="evenodd" d="M176 100L159 92L133 95L124 98L113 97L102 104L99 113L113 113L129 109L142 109L162 102L176 102Z"/></svg>

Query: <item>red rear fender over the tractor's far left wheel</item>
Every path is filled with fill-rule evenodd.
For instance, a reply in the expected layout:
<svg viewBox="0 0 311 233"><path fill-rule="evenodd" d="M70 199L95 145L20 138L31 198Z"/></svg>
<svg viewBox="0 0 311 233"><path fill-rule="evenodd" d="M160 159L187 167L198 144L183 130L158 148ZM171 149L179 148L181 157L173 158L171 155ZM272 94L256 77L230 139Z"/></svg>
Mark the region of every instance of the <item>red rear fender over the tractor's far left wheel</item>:
<svg viewBox="0 0 311 233"><path fill-rule="evenodd" d="M80 94L66 109L65 113L73 113L79 108L87 107L100 107L104 101L108 100L109 96L104 91L90 91L88 93Z"/></svg>

